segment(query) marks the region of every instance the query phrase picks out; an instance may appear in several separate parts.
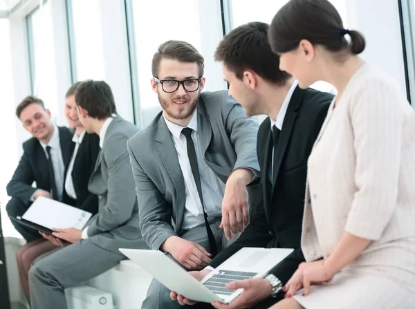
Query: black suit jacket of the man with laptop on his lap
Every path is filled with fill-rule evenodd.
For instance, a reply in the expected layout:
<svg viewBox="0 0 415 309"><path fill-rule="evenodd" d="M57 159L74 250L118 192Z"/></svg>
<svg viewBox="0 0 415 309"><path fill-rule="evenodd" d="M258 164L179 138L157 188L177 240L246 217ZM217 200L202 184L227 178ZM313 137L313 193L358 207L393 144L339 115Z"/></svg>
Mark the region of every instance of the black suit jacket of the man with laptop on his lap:
<svg viewBox="0 0 415 309"><path fill-rule="evenodd" d="M333 95L297 86L288 104L277 147L275 185L268 180L272 167L273 138L270 119L258 131L257 154L261 169L263 207L259 205L246 230L210 263L217 267L242 247L295 248L273 273L286 283L299 263L307 160L317 138Z"/></svg>

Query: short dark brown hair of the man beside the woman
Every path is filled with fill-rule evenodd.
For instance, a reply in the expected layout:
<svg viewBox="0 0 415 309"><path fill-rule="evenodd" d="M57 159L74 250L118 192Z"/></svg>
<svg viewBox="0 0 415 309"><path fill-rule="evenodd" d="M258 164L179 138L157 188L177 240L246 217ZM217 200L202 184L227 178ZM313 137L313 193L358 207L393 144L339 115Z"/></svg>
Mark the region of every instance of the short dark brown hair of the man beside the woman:
<svg viewBox="0 0 415 309"><path fill-rule="evenodd" d="M252 70L268 82L284 85L291 75L279 70L279 56L268 43L268 28L259 21L234 28L219 43L214 59L223 62L238 79L244 71Z"/></svg>

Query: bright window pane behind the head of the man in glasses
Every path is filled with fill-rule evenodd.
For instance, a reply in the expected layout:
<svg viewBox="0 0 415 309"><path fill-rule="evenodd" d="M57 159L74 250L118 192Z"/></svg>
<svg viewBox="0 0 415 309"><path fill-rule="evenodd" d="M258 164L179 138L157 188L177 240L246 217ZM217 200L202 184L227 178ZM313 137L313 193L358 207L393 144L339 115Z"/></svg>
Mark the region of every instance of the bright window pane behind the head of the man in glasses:
<svg viewBox="0 0 415 309"><path fill-rule="evenodd" d="M140 112L142 115L141 126L147 125L161 110L157 96L151 90L151 59L160 44L169 39L183 40L192 44L199 53L205 57L205 77L207 77L205 90L219 90L218 82L208 78L220 79L225 88L223 77L212 73L214 65L208 65L213 59L214 48L221 39L221 12L219 1L209 1L208 12L205 11L205 0L158 0L156 7L152 1L131 1L133 13L133 31L136 46L136 63ZM213 12L214 11L214 12ZM210 14L214 15L210 18ZM216 16L217 15L217 16ZM208 16L208 17L207 17ZM219 35L212 23L218 23ZM209 18L208 21L206 20ZM208 29L210 24L210 29ZM216 26L215 26L216 27ZM216 40L217 35L217 40ZM210 36L210 37L209 37ZM213 39L212 39L213 37ZM216 40L216 41L215 41ZM214 45L214 46L213 46ZM219 71L220 71L220 64ZM219 76L216 76L219 75Z"/></svg>

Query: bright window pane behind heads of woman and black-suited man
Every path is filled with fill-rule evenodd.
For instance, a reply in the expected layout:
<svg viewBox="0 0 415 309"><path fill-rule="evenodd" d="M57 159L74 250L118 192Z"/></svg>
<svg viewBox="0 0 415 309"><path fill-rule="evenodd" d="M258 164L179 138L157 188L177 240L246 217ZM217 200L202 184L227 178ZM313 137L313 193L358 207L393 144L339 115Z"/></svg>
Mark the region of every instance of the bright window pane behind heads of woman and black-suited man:
<svg viewBox="0 0 415 309"><path fill-rule="evenodd" d="M262 21L270 24L278 10L287 2L288 0L232 0L231 26L236 28L250 21ZM331 0L330 2L339 11L344 28L347 28L346 0ZM316 82L311 87L320 91L335 92L335 88L326 82Z"/></svg>

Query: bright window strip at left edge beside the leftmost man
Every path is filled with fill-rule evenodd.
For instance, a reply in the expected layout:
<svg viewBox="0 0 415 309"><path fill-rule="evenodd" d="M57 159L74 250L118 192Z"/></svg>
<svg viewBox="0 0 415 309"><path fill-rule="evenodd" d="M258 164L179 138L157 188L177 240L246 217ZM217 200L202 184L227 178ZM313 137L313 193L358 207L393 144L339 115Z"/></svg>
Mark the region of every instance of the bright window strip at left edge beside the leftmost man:
<svg viewBox="0 0 415 309"><path fill-rule="evenodd" d="M13 100L13 84L12 84L12 64L10 50L8 19L0 19L0 85L1 85L1 119L0 132L1 143L7 145L7 151L1 152L0 160L0 211L1 224L4 236L21 237L10 223L7 213L6 204L10 199L6 192L6 185L12 178L12 174L17 166L17 140L16 140L16 118L15 118L15 102Z"/></svg>

